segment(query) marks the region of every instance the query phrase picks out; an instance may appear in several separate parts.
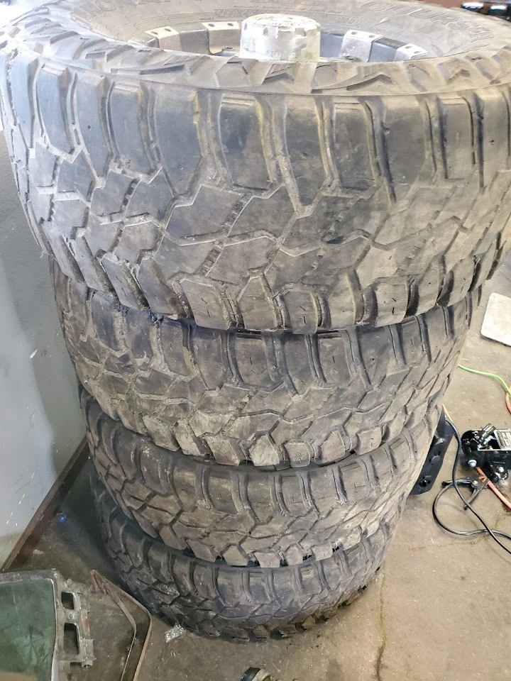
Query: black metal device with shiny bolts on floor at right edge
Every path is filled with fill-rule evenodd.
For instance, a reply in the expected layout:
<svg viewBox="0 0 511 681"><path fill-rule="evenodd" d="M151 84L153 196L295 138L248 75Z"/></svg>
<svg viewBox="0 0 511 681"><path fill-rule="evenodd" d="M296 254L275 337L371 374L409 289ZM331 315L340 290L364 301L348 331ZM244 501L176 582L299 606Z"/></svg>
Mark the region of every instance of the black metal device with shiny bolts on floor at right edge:
<svg viewBox="0 0 511 681"><path fill-rule="evenodd" d="M511 428L488 426L466 431L461 448L469 468L480 468L492 482L506 480L511 469Z"/></svg>

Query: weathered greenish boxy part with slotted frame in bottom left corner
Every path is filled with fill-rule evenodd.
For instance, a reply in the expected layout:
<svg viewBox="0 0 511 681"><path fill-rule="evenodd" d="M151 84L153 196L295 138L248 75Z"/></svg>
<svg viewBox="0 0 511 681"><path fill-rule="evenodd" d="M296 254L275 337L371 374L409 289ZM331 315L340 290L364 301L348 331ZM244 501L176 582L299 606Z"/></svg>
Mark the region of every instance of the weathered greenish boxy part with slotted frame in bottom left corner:
<svg viewBox="0 0 511 681"><path fill-rule="evenodd" d="M90 586L57 570L0 575L0 677L136 681L152 628L147 609L96 570Z"/></svg>

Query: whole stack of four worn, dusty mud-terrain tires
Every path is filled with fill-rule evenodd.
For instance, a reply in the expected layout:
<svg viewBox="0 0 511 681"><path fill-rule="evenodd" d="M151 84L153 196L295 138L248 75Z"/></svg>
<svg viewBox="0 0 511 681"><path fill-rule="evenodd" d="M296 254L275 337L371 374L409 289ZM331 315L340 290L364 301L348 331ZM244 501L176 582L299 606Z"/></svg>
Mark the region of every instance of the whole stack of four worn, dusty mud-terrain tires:
<svg viewBox="0 0 511 681"><path fill-rule="evenodd" d="M290 65L137 38L259 5L230 8L36 9L0 38L1 93L119 575L193 631L267 638L368 584L422 467L510 243L511 33L327 0L309 16L385 23L429 57Z"/></svg>

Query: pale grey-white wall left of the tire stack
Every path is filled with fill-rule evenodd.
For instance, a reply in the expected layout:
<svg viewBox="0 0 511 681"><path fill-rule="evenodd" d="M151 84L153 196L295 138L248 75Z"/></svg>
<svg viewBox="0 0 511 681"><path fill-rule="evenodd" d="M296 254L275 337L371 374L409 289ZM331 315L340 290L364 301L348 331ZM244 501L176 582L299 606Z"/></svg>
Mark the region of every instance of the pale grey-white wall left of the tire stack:
<svg viewBox="0 0 511 681"><path fill-rule="evenodd" d="M48 260L0 132L0 566L83 436Z"/></svg>

